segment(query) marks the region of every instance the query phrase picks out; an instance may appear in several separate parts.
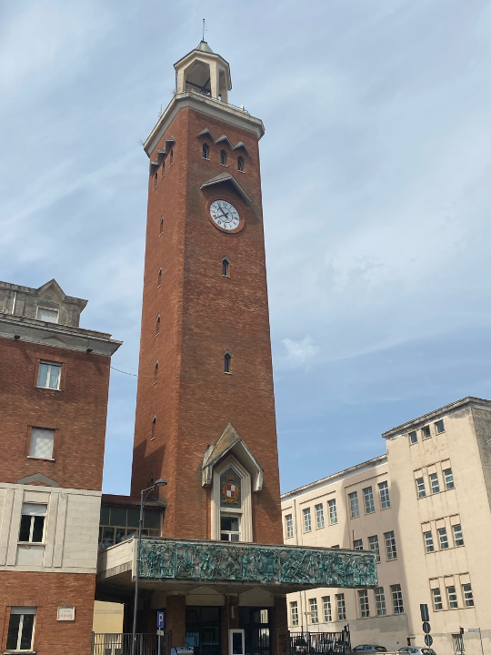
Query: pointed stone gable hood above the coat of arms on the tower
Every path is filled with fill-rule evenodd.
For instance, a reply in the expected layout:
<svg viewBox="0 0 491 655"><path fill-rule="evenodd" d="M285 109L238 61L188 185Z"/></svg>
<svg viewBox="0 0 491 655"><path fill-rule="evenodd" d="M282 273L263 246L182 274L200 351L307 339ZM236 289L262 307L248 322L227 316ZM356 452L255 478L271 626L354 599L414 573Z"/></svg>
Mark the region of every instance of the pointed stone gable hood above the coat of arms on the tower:
<svg viewBox="0 0 491 655"><path fill-rule="evenodd" d="M211 485L213 469L226 455L234 455L235 459L249 471L253 491L263 489L264 470L230 423L226 426L215 446L206 448L203 459L203 487Z"/></svg>

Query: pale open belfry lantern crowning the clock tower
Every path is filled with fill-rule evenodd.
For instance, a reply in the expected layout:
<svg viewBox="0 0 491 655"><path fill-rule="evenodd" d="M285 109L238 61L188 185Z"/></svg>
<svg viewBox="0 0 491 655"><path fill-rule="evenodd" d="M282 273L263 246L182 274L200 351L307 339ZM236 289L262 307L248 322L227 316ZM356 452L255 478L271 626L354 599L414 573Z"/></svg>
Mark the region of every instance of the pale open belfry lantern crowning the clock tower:
<svg viewBox="0 0 491 655"><path fill-rule="evenodd" d="M228 92L232 88L230 66L205 41L201 41L174 67L178 94L194 92L228 102Z"/></svg>

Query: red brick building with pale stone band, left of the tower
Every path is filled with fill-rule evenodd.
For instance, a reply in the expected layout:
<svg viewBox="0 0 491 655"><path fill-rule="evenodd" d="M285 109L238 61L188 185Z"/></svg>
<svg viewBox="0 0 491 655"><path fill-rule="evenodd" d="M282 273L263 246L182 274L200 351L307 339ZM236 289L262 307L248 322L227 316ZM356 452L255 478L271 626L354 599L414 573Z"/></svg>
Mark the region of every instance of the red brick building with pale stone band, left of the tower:
<svg viewBox="0 0 491 655"><path fill-rule="evenodd" d="M90 653L111 356L86 301L0 282L0 650Z"/></svg>

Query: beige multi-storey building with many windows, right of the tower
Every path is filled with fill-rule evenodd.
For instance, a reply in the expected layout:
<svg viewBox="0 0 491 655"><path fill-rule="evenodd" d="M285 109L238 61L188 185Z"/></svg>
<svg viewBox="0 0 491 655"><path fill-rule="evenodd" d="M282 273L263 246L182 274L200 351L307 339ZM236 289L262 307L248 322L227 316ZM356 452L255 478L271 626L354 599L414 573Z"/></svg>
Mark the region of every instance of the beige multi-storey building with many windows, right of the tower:
<svg viewBox="0 0 491 655"><path fill-rule="evenodd" d="M426 603L437 655L490 652L491 401L464 398L382 436L386 455L282 497L286 544L379 559L376 589L290 594L289 628L347 623L354 646L424 646Z"/></svg>

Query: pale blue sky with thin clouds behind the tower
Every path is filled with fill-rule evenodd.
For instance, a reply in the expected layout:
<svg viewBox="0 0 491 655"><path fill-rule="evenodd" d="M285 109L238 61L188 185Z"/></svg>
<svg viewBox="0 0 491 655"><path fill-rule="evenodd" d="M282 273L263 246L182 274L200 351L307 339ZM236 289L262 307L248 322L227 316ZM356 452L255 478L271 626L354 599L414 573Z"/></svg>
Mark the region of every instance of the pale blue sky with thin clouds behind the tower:
<svg viewBox="0 0 491 655"><path fill-rule="evenodd" d="M388 428L491 398L491 4L44 0L0 5L0 277L55 277L115 354L105 491L127 493L148 166L201 38L261 164L282 489Z"/></svg>

